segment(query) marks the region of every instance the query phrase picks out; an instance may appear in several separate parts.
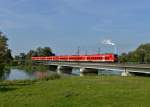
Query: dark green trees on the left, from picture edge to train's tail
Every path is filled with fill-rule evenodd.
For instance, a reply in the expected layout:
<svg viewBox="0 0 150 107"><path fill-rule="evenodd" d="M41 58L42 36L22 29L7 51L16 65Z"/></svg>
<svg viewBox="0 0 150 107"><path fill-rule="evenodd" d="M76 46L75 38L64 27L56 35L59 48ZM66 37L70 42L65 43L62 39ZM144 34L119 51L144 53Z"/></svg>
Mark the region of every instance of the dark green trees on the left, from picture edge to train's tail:
<svg viewBox="0 0 150 107"><path fill-rule="evenodd" d="M12 56L11 49L8 48L8 38L3 32L0 32L0 71L2 71L6 65L16 66L32 64L32 56L54 56L50 47L38 47L35 50L30 50L27 53L20 53L19 55Z"/></svg>

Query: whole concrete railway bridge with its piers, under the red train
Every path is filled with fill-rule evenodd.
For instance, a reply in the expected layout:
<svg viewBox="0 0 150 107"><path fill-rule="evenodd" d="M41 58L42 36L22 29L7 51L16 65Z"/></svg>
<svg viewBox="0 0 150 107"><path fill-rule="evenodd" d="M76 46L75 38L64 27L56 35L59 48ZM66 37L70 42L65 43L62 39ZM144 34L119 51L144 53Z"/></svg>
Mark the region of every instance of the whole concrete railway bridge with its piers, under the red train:
<svg viewBox="0 0 150 107"><path fill-rule="evenodd" d="M150 76L150 64L85 63L60 61L42 61L42 64L48 65L50 70L57 70L58 73L71 73L73 68L79 68L80 75L85 73L98 74L99 70L110 70L120 71L122 76Z"/></svg>

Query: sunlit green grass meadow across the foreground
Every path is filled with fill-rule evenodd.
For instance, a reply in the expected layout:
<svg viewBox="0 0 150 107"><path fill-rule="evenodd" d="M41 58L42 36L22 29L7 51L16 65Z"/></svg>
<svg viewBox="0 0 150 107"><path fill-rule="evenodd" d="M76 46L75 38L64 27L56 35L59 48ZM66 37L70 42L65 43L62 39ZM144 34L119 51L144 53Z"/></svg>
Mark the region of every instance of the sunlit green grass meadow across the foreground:
<svg viewBox="0 0 150 107"><path fill-rule="evenodd" d="M0 88L0 107L149 107L149 98L147 77L63 77Z"/></svg>

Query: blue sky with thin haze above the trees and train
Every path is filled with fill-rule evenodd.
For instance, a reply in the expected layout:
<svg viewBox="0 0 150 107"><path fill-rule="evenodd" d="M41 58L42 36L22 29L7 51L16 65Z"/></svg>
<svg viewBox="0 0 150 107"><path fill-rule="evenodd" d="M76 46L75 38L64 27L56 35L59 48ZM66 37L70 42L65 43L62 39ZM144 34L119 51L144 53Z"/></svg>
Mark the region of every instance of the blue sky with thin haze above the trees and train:
<svg viewBox="0 0 150 107"><path fill-rule="evenodd" d="M150 42L149 12L149 0L0 0L0 31L13 55L39 46L57 55L122 53Z"/></svg>

